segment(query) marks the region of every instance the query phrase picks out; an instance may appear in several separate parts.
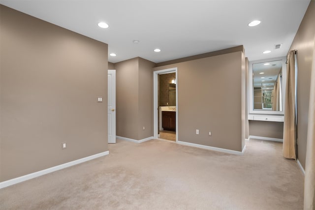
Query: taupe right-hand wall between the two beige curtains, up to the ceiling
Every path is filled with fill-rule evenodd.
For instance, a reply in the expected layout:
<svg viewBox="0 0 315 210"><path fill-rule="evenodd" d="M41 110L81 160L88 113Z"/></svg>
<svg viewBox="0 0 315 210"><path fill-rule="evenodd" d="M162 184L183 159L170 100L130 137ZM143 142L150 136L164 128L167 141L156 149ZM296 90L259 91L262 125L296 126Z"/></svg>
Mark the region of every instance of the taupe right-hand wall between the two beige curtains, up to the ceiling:
<svg viewBox="0 0 315 210"><path fill-rule="evenodd" d="M310 5L301 22L299 30L292 42L290 50L297 50L298 81L297 81L297 119L298 119L298 159L305 168L307 127L310 102L311 69L314 60L315 34L315 1Z"/></svg>

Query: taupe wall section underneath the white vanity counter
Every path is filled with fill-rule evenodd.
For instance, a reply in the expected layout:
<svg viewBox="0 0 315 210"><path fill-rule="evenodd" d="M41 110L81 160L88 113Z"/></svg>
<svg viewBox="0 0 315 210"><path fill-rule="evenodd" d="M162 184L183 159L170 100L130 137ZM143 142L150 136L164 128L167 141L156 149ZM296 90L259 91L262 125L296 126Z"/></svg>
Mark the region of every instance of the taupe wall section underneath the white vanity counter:
<svg viewBox="0 0 315 210"><path fill-rule="evenodd" d="M251 136L283 139L284 123L249 120L249 132Z"/></svg>

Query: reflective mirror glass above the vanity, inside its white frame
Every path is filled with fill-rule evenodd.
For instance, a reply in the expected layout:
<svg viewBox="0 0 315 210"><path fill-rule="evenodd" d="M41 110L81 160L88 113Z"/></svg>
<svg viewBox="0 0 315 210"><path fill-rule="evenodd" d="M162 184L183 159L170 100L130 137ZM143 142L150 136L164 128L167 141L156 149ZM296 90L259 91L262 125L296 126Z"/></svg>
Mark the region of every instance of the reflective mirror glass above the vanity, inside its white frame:
<svg viewBox="0 0 315 210"><path fill-rule="evenodd" d="M253 110L283 111L282 60L252 64Z"/></svg>

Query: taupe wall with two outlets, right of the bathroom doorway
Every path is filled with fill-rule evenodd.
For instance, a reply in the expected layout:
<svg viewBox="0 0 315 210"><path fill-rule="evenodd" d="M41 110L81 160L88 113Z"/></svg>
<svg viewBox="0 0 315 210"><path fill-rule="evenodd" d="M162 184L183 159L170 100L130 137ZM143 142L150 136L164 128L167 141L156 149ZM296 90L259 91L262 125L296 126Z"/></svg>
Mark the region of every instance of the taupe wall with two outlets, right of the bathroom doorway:
<svg viewBox="0 0 315 210"><path fill-rule="evenodd" d="M245 114L243 51L241 47L238 52L224 51L227 54L154 68L178 67L179 141L242 150L242 124L245 123L242 117L242 113ZM199 135L195 134L196 129ZM209 131L212 136L208 135Z"/></svg>

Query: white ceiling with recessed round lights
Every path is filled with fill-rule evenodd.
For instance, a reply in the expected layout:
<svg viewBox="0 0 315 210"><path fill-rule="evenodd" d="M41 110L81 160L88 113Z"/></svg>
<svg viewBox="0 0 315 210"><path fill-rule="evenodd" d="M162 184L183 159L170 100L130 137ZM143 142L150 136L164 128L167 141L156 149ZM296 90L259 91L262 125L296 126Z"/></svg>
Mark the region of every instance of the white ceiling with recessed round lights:
<svg viewBox="0 0 315 210"><path fill-rule="evenodd" d="M245 56L285 56L310 0L0 0L108 44L110 62L162 62L244 45ZM252 20L261 24L249 27ZM108 29L97 23L103 21ZM133 40L140 43L134 44ZM275 44L283 44L274 49ZM161 52L153 50L160 48ZM269 54L262 54L271 50Z"/></svg>

